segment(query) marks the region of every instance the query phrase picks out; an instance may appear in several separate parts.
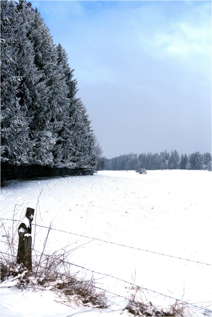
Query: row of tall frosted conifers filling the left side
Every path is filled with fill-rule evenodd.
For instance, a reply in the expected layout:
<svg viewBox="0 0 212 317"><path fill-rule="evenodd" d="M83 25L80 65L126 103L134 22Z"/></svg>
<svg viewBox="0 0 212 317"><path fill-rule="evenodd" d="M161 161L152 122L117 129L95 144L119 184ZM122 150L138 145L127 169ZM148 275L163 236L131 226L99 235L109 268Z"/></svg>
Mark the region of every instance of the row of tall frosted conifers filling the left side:
<svg viewBox="0 0 212 317"><path fill-rule="evenodd" d="M1 161L95 170L99 145L62 46L37 9L1 1Z"/></svg>

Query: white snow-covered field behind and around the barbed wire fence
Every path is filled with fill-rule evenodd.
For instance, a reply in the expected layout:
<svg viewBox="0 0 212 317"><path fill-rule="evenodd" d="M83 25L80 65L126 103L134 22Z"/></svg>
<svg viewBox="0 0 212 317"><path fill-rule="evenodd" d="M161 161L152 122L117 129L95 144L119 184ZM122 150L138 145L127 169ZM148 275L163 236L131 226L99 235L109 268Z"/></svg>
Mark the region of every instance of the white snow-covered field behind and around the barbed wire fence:
<svg viewBox="0 0 212 317"><path fill-rule="evenodd" d="M142 299L155 305L168 308L175 303L170 296L210 309L211 266L206 264L211 264L211 189L211 172L184 170L146 175L99 171L93 176L8 182L1 190L1 218L12 219L15 204L22 205L16 206L16 220L27 206L36 209L42 190L36 224L49 227L52 222L52 228L72 233L50 230L45 253L70 244L69 261L85 268L71 266L73 272L80 270L78 276L89 279L89 269L113 277L93 273L96 286L111 292L106 310L74 303L67 307L48 290L2 288L1 316L132 316L122 312L125 298L133 293L129 283L149 289ZM10 230L12 222L2 221ZM33 239L34 230L32 226ZM42 251L47 231L36 227L36 250ZM6 242L2 235L3 230L1 240ZM1 250L7 252L6 243ZM204 310L193 307L190 314L204 316Z"/></svg>

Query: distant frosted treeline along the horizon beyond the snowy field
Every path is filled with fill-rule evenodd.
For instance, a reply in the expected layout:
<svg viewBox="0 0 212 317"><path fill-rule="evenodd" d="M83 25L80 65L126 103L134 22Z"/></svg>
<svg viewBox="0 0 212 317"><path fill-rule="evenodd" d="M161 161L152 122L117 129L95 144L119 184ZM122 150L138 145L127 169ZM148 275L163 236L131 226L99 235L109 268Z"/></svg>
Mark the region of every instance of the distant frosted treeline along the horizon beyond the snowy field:
<svg viewBox="0 0 212 317"><path fill-rule="evenodd" d="M171 153L164 152L141 153L137 156L135 153L120 155L108 159L105 162L104 169L111 171L119 170L137 170L145 168L146 170L163 170L163 169L181 169L181 170L208 170L211 171L211 154L195 152L192 154L182 154L176 150Z"/></svg>

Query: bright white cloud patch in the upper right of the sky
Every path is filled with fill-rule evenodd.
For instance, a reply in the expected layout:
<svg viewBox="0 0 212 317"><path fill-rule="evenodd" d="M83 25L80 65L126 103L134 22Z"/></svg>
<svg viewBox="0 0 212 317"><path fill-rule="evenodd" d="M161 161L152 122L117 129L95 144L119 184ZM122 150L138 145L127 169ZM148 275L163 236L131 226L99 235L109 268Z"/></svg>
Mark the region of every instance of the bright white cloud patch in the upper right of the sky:
<svg viewBox="0 0 212 317"><path fill-rule="evenodd" d="M187 2L185 2L187 3ZM146 36L140 32L139 42L144 50L158 58L170 57L196 59L197 56L211 56L211 10L209 2L197 2L184 7L181 15L162 19L163 24L155 24Z"/></svg>

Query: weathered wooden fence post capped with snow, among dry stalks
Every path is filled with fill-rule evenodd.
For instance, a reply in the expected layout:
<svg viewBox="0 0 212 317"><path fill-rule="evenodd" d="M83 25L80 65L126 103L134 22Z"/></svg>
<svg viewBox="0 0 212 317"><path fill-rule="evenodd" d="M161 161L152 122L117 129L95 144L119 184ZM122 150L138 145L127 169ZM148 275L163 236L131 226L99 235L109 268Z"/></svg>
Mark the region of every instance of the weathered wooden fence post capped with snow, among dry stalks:
<svg viewBox="0 0 212 317"><path fill-rule="evenodd" d="M17 263L23 263L23 265L32 269L32 220L34 216L35 209L30 207L26 210L26 215L23 218L23 222L18 227L18 254Z"/></svg>

